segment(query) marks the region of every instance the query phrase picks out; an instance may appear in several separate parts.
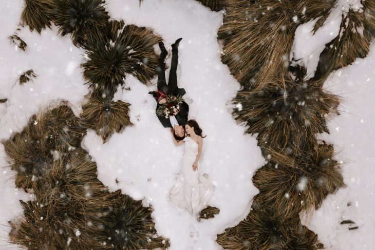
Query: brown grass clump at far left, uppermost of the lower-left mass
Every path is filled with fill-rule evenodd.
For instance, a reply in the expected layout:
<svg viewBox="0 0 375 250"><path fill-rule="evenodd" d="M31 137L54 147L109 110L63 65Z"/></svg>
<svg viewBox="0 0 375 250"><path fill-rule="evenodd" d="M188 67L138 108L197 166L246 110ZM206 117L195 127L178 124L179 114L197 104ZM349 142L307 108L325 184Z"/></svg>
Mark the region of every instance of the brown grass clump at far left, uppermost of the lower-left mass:
<svg viewBox="0 0 375 250"><path fill-rule="evenodd" d="M32 116L22 132L3 142L10 166L17 172L16 186L31 188L43 178L53 158L80 147L84 133L79 119L65 105Z"/></svg>

